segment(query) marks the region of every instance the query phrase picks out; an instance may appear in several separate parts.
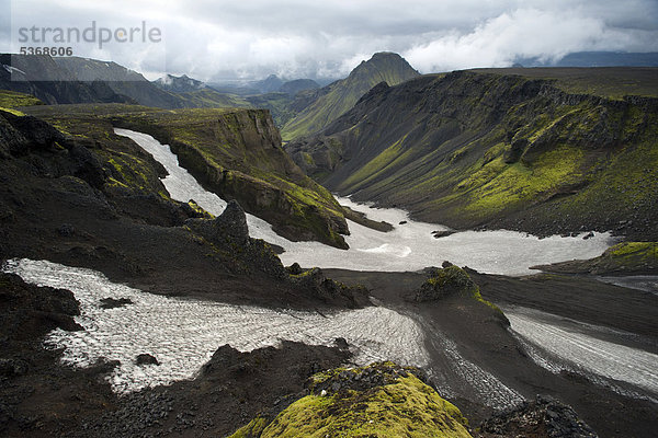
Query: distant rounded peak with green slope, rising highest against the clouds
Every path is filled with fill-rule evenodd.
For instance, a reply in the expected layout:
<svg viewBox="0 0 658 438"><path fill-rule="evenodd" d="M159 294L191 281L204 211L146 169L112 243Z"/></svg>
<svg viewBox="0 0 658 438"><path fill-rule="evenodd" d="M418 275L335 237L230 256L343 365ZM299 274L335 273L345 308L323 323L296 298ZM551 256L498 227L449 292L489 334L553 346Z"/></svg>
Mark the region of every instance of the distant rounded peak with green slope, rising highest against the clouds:
<svg viewBox="0 0 658 438"><path fill-rule="evenodd" d="M328 85L329 93L318 97L282 129L285 140L319 131L349 111L359 99L379 82L395 85L418 76L395 54L375 54L356 67L347 79Z"/></svg>

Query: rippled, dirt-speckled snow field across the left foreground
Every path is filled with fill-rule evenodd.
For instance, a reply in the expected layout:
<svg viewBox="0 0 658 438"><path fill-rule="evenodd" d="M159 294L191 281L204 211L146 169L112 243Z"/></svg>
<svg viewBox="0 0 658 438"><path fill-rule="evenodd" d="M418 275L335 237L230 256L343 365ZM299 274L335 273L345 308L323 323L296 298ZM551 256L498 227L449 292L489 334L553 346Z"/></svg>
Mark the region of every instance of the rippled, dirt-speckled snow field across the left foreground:
<svg viewBox="0 0 658 438"><path fill-rule="evenodd" d="M274 346L281 339L332 345L344 337L358 365L394 360L424 367L427 351L420 327L393 310L372 307L327 315L299 311L227 306L167 298L113 284L83 268L30 260L9 261L4 272L39 286L66 288L80 301L80 332L56 330L46 345L65 347L63 362L88 367L99 358L120 360L110 383L116 392L190 379L222 345L241 351ZM103 298L127 298L133 304L102 309ZM154 355L160 366L135 365L137 355Z"/></svg>

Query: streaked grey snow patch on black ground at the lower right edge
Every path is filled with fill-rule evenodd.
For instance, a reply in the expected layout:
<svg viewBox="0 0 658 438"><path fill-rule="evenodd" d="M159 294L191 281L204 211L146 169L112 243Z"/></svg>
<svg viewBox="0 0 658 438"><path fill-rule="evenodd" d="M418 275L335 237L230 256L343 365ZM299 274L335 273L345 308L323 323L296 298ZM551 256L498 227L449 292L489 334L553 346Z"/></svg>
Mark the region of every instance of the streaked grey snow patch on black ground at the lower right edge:
<svg viewBox="0 0 658 438"><path fill-rule="evenodd" d="M608 330L571 320L567 324L561 318L536 310L506 308L504 314L514 332L575 370L633 383L658 395L658 355L591 335ZM547 358L534 359L554 371L564 368Z"/></svg>

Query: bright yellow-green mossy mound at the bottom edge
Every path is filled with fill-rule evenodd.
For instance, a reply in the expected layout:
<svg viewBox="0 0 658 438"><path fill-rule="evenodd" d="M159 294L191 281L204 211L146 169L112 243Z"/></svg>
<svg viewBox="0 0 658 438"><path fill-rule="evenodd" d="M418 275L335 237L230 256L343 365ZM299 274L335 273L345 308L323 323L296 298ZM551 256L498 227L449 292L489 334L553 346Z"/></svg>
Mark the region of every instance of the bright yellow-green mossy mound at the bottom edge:
<svg viewBox="0 0 658 438"><path fill-rule="evenodd" d="M363 377L368 368L373 369L336 372ZM311 391L269 425L263 427L263 418L256 418L232 437L470 437L460 410L413 372L390 362L375 365L375 369L384 377L372 388ZM314 380L327 380L336 372Z"/></svg>

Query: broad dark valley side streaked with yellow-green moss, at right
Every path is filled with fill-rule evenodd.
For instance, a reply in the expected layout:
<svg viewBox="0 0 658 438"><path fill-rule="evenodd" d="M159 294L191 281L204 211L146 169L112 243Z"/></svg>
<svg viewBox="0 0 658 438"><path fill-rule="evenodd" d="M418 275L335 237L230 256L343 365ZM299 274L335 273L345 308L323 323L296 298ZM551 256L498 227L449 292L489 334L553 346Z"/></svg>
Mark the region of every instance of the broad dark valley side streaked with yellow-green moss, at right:
<svg viewBox="0 0 658 438"><path fill-rule="evenodd" d="M658 230L657 122L655 97L457 71L379 84L286 150L330 189L424 220L647 238Z"/></svg>

